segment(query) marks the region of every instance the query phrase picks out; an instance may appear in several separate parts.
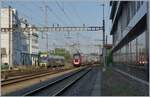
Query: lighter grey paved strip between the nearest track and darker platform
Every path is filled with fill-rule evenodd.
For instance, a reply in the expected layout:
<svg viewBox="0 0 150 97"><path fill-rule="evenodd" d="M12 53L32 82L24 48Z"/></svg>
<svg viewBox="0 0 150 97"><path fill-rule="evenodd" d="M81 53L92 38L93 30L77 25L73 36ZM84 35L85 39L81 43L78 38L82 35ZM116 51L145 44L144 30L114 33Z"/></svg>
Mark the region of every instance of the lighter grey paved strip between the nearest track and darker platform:
<svg viewBox="0 0 150 97"><path fill-rule="evenodd" d="M62 96L101 96L101 67L93 67Z"/></svg>

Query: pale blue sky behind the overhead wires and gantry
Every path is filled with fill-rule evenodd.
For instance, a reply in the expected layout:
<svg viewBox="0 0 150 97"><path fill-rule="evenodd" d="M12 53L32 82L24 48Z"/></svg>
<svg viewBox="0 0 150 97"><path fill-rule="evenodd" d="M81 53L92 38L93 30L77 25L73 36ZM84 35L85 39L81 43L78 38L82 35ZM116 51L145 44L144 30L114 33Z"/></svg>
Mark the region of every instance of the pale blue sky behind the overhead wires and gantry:
<svg viewBox="0 0 150 97"><path fill-rule="evenodd" d="M102 26L103 8L105 4L105 26L108 43L112 43L110 36L111 21L109 20L109 1L102 0L3 0L2 7L17 9L19 18L25 18L36 26L45 26L45 6L47 10L47 25L52 26ZM43 37L42 37L43 36ZM102 31L96 32L49 32L49 49L65 47L74 50L71 45L80 43L83 53L99 53L98 46L102 45ZM39 33L39 49L46 50L46 34ZM78 46L75 46L76 48Z"/></svg>

